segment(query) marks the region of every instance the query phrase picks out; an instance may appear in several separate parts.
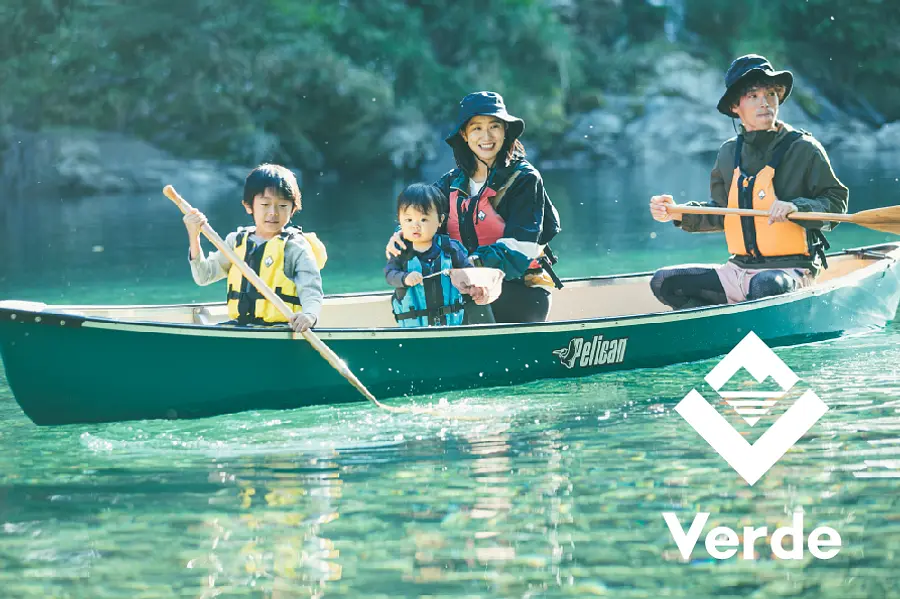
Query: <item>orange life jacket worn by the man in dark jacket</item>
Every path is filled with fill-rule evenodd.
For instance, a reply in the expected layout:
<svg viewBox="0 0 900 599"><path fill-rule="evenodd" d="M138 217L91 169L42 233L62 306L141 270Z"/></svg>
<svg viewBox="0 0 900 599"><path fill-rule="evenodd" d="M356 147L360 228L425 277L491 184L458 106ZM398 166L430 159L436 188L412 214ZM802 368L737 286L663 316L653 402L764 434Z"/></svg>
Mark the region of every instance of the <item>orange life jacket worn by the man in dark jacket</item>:
<svg viewBox="0 0 900 599"><path fill-rule="evenodd" d="M729 208L768 211L775 201L775 169L788 148L802 137L792 131L775 148L772 160L756 175L741 170L741 148L744 136L738 135L734 148L734 174L728 191ZM725 217L725 239L728 251L738 256L809 256L807 230L793 222L772 223L766 216Z"/></svg>

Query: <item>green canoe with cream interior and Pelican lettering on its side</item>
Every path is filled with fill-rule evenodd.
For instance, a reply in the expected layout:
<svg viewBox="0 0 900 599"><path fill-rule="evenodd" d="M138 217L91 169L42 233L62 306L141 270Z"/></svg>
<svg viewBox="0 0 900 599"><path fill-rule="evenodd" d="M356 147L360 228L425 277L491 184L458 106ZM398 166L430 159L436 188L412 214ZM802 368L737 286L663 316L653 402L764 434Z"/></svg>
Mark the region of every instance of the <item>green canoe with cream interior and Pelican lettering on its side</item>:
<svg viewBox="0 0 900 599"><path fill-rule="evenodd" d="M748 331L769 345L882 327L900 301L900 243L829 257L812 288L667 311L648 274L571 280L552 321L393 327L386 293L329 296L319 336L378 397L510 385L697 360ZM9 386L38 424L189 418L360 399L284 329L215 326L222 304L47 306L0 302Z"/></svg>

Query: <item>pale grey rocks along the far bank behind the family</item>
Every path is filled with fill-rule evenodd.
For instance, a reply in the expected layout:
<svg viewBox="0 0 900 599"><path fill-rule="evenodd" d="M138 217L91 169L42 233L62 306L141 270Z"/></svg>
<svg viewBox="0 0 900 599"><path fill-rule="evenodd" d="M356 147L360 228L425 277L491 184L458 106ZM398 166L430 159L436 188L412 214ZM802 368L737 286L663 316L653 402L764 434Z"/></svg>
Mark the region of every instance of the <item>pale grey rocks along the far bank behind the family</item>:
<svg viewBox="0 0 900 599"><path fill-rule="evenodd" d="M715 110L721 69L682 52L662 57L655 76L627 95L603 96L600 107L572 115L568 130L548 147L524 141L543 169L712 160L734 135L732 121ZM515 99L510 98L515 106ZM812 132L831 153L874 160L896 155L900 122L874 128L841 111L797 77L781 116ZM398 172L447 162L446 125L410 119L380 136ZM0 136L0 176L7 192L41 190L74 197L156 191L167 183L211 194L239 185L253 165L224 165L171 155L144 141L89 130L8 130ZM299 170L302 174L302 165Z"/></svg>

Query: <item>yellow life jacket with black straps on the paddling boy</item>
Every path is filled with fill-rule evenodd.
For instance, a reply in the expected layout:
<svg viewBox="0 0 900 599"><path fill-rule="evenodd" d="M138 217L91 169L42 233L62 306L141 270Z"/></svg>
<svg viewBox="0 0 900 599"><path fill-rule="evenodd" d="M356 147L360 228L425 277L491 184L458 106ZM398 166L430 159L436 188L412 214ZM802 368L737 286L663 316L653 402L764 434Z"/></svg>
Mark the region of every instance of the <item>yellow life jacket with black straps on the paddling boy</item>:
<svg viewBox="0 0 900 599"><path fill-rule="evenodd" d="M328 254L325 245L315 233L303 233L297 228L288 228L262 246L257 246L250 235L255 227L238 230L234 252L247 263L259 278L287 304L292 312L301 312L300 297L294 281L284 274L284 248L294 235L303 235L312 247L316 265L325 266ZM228 271L228 316L241 323L287 322L278 309L269 302L253 285L244 278L238 268Z"/></svg>

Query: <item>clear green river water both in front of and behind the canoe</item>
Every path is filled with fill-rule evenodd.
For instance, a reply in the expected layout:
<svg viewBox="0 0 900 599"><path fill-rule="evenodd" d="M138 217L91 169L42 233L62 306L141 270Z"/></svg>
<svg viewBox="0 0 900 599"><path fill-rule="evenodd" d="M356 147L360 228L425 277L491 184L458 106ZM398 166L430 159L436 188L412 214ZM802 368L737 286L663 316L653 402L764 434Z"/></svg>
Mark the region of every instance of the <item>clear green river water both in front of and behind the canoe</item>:
<svg viewBox="0 0 900 599"><path fill-rule="evenodd" d="M852 211L900 198L896 169L836 170ZM565 229L553 243L562 276L725 257L722 236L647 213L651 192L706 197L705 165L545 178ZM401 185L307 176L299 220L328 245L326 292L384 287ZM223 235L244 223L237 191L181 191ZM0 230L2 299L223 293L193 285L161 194L4 198ZM830 236L833 248L889 238L849 225ZM709 394L718 359L442 396L495 414L479 422L356 403L57 428L22 414L0 369L0 597L900 597L898 343L892 324L778 349L830 410L752 487L673 409L693 388ZM758 559L719 561L704 547L713 526L771 534L798 507L805 534L841 534L836 557L775 559L760 540ZM662 512L685 529L711 514L689 560Z"/></svg>

